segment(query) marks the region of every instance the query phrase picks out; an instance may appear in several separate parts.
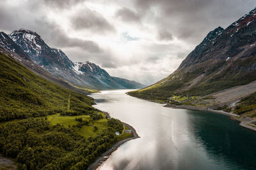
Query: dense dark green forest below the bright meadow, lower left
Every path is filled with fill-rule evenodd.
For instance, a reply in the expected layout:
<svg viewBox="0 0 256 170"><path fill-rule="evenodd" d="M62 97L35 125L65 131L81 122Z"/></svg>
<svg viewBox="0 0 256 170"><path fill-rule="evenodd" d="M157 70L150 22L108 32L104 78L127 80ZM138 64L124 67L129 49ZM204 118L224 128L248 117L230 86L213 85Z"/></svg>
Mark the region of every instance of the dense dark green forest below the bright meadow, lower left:
<svg viewBox="0 0 256 170"><path fill-rule="evenodd" d="M84 138L74 127L51 125L44 118L26 118L0 126L0 152L18 169L86 169L115 143L122 122L111 118L97 136Z"/></svg>

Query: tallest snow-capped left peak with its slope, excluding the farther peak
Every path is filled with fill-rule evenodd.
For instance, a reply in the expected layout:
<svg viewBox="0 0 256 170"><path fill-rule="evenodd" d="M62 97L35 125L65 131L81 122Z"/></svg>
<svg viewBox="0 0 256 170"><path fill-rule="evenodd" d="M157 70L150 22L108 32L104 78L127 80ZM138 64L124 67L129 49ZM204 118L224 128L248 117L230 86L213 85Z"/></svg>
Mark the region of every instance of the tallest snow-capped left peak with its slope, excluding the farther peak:
<svg viewBox="0 0 256 170"><path fill-rule="evenodd" d="M20 29L13 31L10 38L26 52L31 60L57 78L63 78L74 84L84 84L72 70L73 62L61 50L50 48L44 40L33 31Z"/></svg>

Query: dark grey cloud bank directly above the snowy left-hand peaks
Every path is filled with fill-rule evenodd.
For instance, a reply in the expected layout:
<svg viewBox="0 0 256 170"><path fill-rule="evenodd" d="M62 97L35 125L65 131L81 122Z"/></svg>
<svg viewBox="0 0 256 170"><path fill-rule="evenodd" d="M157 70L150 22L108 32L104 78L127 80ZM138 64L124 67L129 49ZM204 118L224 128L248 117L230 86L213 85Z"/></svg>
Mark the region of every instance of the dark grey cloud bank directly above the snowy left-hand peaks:
<svg viewBox="0 0 256 170"><path fill-rule="evenodd" d="M10 33L14 30L24 28L37 32L45 42L57 48L80 48L88 52L101 52L99 45L94 41L79 38L70 38L54 22L49 22L44 15L41 15L35 1L22 4L21 6L8 6L1 2L4 8L0 10L0 29ZM37 10L37 15L31 15L30 11Z"/></svg>

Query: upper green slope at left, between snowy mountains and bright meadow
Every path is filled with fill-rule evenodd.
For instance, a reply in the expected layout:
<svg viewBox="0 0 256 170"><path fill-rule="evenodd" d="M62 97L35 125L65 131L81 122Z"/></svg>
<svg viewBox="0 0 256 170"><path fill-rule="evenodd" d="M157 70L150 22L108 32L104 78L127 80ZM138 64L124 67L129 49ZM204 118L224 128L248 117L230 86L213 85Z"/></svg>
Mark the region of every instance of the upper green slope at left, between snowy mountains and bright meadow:
<svg viewBox="0 0 256 170"><path fill-rule="evenodd" d="M42 117L65 113L68 106L69 89L37 76L11 57L0 53L0 122L15 118ZM72 91L73 111L88 114L93 99Z"/></svg>

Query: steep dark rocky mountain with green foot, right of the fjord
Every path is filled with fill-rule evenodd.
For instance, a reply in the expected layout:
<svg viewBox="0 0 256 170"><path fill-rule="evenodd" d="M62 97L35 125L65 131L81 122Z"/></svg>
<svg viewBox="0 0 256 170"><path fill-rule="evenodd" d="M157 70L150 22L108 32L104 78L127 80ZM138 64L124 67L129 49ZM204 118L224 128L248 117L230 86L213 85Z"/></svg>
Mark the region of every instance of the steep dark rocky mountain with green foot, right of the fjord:
<svg viewBox="0 0 256 170"><path fill-rule="evenodd" d="M188 101L187 104L198 104L198 101L195 103L190 99L203 99L202 96L218 98L221 96L218 92L227 94L229 89L233 97L226 95L226 98L210 102L202 100L200 104L230 104L256 91L255 56L256 8L226 29L218 27L209 32L168 77L129 94L159 102L170 101L173 96L179 96L180 100L182 96L188 96L183 97ZM234 89L239 89L239 92L234 92ZM225 93L223 90L226 90Z"/></svg>

